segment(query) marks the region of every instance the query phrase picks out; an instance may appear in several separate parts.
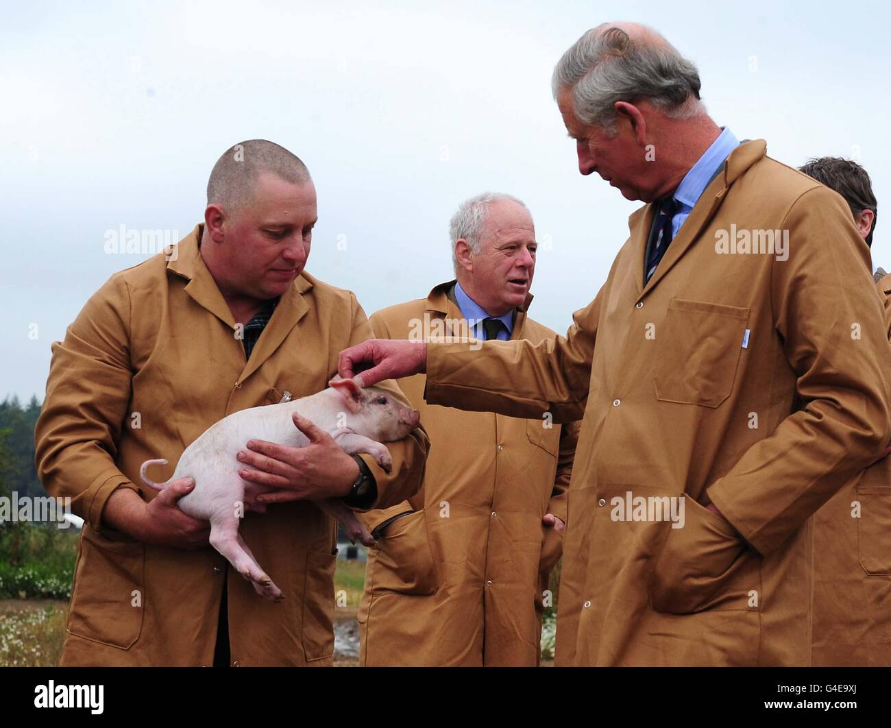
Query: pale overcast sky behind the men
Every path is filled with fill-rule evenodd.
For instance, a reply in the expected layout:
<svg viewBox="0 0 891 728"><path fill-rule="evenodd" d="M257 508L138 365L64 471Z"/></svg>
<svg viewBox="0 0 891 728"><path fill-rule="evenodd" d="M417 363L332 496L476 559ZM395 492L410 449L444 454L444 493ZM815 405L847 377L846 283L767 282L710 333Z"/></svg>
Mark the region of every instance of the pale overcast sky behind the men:
<svg viewBox="0 0 891 728"><path fill-rule="evenodd" d="M214 162L250 138L307 163L307 271L369 315L452 277L461 200L525 200L540 242L530 313L566 331L638 207L578 174L551 96L561 53L606 20L648 23L695 61L738 138L794 166L859 159L879 206L891 200L881 2L3 3L0 398L42 399L51 343L147 257L108 255L106 231L183 237ZM888 231L886 212L873 262L891 269Z"/></svg>

